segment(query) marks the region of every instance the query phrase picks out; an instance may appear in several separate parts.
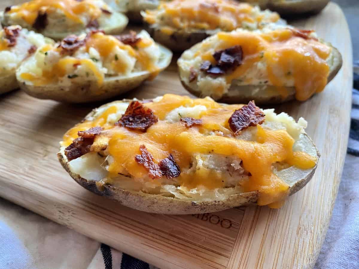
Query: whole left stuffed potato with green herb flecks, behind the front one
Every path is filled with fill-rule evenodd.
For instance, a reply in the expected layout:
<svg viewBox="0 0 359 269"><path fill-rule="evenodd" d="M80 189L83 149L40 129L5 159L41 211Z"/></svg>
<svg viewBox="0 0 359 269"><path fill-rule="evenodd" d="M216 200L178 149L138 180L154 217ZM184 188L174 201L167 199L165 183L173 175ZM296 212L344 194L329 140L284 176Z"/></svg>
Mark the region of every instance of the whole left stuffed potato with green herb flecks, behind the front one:
<svg viewBox="0 0 359 269"><path fill-rule="evenodd" d="M172 52L156 44L145 30L121 36L93 31L39 47L16 76L20 88L36 98L84 103L154 79L171 59Z"/></svg>

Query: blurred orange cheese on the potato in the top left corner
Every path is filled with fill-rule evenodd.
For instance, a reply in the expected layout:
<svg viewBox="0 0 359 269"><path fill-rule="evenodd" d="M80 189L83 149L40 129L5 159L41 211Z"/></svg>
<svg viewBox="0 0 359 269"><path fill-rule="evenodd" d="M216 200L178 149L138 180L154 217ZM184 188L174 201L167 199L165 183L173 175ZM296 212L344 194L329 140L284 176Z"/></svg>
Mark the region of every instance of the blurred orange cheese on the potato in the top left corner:
<svg viewBox="0 0 359 269"><path fill-rule="evenodd" d="M61 10L66 18L76 22L84 23L81 15L88 14L90 19L98 18L102 11L95 5L94 0L33 0L21 5L12 6L9 14L15 13L29 25L33 25L39 11L51 14Z"/></svg>

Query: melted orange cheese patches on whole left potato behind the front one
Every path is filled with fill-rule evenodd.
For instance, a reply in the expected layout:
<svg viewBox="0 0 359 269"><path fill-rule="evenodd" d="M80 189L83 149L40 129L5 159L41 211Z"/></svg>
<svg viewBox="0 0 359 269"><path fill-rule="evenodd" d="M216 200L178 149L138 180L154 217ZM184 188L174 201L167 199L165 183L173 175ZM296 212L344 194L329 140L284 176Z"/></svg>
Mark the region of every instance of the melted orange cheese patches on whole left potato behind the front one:
<svg viewBox="0 0 359 269"><path fill-rule="evenodd" d="M116 47L125 50L129 53L130 56L135 57L137 61L141 63L141 66L144 71L149 71L151 73L150 79L153 79L159 72L158 66L156 66L149 58L147 53L143 51L143 48L150 46L153 43L151 39L141 38L139 42L136 43L137 50L131 47L130 45L123 44L117 38L103 34L102 32L97 32L92 34L84 44L85 51L89 52L90 48L94 48L98 51L101 58L106 61L107 57L113 53ZM46 45L41 48L43 53L46 53L50 50L60 52L61 48L57 45ZM97 79L98 85L103 84L104 76L102 72L98 70L98 67L95 65L95 62L88 58L76 58L72 56L66 56L61 58L55 65L52 66L50 71L43 70L41 76L36 76L31 73L22 73L20 77L23 80L31 81L36 86L47 85L50 83L57 82L59 77L64 77L68 74L68 70L75 69L78 65L85 65L89 70L91 70L94 76ZM111 67L113 70L118 72L118 74L123 74L126 69L126 63L124 63L121 57L112 57Z"/></svg>

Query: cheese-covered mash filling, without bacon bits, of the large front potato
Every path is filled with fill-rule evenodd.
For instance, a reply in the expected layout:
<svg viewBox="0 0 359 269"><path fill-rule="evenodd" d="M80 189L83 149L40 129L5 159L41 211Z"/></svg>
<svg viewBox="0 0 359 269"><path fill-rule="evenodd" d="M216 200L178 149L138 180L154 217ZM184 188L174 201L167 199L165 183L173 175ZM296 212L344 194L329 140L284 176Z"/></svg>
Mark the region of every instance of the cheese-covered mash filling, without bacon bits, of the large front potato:
<svg viewBox="0 0 359 269"><path fill-rule="evenodd" d="M181 199L220 199L225 194L258 190L258 204L278 207L288 195L289 185L276 173L288 167L311 169L317 162L315 150L308 154L295 147L306 127L302 118L297 123L285 113L276 115L272 109L263 110L264 123L235 136L228 119L242 105L166 94L143 104L153 111L158 122L146 132L139 132L114 125L127 105L110 103L66 132L62 151L78 137L78 131L104 128L92 145L100 151L70 161L72 171L99 184ZM183 116L201 119L202 124L186 127L180 121ZM180 175L150 179L148 170L135 161L135 156L141 154L140 145L145 145L155 163L172 154ZM87 162L97 164L98 170L94 173L93 168L85 169Z"/></svg>

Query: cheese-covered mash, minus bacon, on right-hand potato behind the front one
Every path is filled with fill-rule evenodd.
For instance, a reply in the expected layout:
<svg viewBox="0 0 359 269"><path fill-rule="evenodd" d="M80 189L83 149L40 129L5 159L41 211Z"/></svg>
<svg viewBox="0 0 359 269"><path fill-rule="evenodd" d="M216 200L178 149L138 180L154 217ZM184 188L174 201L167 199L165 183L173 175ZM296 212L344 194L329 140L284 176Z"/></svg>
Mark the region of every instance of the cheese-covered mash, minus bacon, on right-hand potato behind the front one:
<svg viewBox="0 0 359 269"><path fill-rule="evenodd" d="M296 30L292 28L256 33L244 30L220 32L203 41L195 51L183 53L178 63L185 66L186 70L191 66L199 70L204 61L215 65L216 61L212 56L215 51L239 45L243 50L241 65L234 71L213 77L213 80L221 81L221 84L216 85L208 94L220 98L232 83L258 86L266 84L274 85L283 97L286 95L285 87L294 86L295 98L307 100L314 93L321 92L327 84L330 72L327 61L332 48L313 36L306 39L295 33ZM198 73L197 85L204 88L202 80L206 80L209 75L200 71Z"/></svg>

